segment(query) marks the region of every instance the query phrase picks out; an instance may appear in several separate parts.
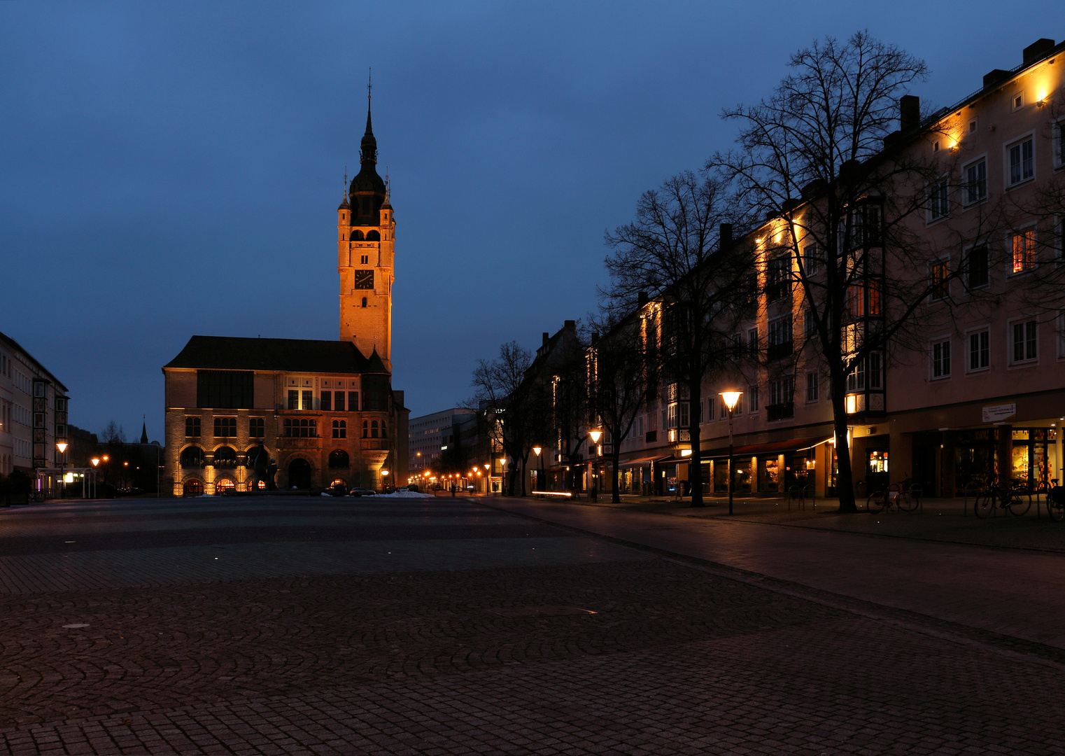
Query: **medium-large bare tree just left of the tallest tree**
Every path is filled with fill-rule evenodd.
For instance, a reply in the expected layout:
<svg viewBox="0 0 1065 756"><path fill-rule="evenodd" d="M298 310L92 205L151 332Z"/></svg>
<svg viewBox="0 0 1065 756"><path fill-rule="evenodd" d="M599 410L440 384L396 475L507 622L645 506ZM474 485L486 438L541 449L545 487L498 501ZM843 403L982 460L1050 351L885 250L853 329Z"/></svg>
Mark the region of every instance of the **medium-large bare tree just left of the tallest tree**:
<svg viewBox="0 0 1065 756"><path fill-rule="evenodd" d="M704 379L737 357L731 335L753 301L750 256L732 245L738 217L726 182L685 171L645 192L636 219L606 234L615 252L606 259L610 282L600 290L604 309L628 312L641 303L641 293L655 300L659 310L645 348L661 364L669 402L698 407ZM651 391L658 378L649 376ZM699 413L689 412L683 425L691 442L691 506L702 507Z"/></svg>

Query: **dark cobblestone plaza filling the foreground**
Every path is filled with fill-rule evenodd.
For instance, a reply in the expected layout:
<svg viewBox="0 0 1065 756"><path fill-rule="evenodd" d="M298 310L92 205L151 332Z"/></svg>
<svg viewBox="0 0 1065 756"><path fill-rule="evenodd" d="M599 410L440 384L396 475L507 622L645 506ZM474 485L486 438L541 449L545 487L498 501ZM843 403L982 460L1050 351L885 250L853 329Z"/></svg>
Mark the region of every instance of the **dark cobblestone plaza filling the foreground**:
<svg viewBox="0 0 1065 756"><path fill-rule="evenodd" d="M1065 752L1060 645L528 515L0 511L0 752Z"/></svg>

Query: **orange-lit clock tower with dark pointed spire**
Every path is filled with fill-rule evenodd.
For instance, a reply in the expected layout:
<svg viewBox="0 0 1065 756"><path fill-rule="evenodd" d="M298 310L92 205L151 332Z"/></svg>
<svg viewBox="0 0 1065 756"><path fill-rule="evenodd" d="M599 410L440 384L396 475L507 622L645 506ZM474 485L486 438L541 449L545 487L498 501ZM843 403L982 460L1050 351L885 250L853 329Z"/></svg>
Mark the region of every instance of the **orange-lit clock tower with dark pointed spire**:
<svg viewBox="0 0 1065 756"><path fill-rule="evenodd" d="M359 174L345 185L337 209L340 339L354 342L366 357L376 350L391 373L396 224L388 186L377 175L368 105L359 163Z"/></svg>

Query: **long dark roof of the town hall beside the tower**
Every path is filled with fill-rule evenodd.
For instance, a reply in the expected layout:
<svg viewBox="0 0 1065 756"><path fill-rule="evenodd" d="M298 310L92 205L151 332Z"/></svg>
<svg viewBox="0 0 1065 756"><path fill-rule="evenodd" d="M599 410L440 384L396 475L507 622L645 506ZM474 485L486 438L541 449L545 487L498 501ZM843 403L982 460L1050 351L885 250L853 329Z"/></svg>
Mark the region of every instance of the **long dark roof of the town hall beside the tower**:
<svg viewBox="0 0 1065 756"><path fill-rule="evenodd" d="M355 344L311 339L193 336L167 367L289 373L388 373L378 357L367 360Z"/></svg>

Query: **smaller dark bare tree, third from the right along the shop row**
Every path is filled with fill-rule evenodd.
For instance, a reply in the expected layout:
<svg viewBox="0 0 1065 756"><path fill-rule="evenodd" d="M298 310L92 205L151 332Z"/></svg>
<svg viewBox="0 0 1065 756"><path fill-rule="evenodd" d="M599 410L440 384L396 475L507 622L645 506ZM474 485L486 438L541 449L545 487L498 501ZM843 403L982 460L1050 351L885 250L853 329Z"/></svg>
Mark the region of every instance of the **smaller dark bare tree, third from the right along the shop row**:
<svg viewBox="0 0 1065 756"><path fill-rule="evenodd" d="M621 502L621 444L648 402L646 319L639 311L620 322L604 313L589 318L594 329L588 351L588 395L610 442L613 489L611 500ZM600 335L602 333L602 335Z"/></svg>

